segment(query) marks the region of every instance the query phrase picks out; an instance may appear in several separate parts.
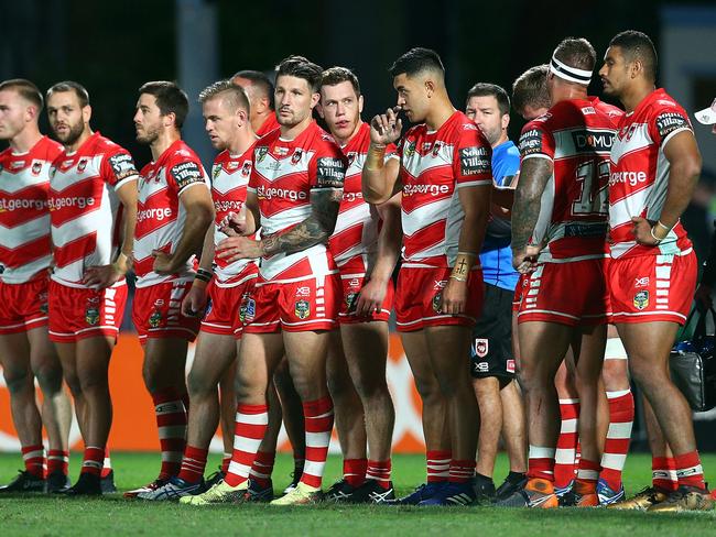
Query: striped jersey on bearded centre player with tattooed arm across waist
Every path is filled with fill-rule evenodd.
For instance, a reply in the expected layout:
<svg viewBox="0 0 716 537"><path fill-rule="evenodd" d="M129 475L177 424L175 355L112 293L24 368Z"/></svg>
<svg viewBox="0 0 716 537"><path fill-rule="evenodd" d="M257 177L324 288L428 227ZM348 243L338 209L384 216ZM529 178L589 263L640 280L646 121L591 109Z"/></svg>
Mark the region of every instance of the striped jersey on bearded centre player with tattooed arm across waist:
<svg viewBox="0 0 716 537"><path fill-rule="evenodd" d="M261 235L265 239L311 216L311 196L326 189L341 190L347 163L338 145L312 122L294 140L282 140L281 130L260 139L253 150L248 190L258 197ZM263 280L296 282L337 272L326 244L293 253L267 255L259 263Z"/></svg>

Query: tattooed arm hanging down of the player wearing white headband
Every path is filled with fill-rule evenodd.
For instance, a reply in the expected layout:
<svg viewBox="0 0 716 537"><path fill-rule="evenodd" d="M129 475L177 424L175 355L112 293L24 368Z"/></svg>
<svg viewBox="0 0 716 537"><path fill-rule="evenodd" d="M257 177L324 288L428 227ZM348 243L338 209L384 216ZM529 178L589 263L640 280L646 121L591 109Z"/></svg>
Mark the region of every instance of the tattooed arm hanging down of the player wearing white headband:
<svg viewBox="0 0 716 537"><path fill-rule="evenodd" d="M540 198L553 169L551 158L532 157L522 161L512 206L512 265L522 273L530 272L530 257L536 253L529 241L540 216Z"/></svg>

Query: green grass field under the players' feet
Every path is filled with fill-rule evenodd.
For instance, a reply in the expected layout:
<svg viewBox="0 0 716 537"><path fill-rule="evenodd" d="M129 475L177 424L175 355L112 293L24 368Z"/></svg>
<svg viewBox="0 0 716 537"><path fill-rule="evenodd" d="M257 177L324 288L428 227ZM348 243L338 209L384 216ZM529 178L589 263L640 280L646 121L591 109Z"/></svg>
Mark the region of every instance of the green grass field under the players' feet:
<svg viewBox="0 0 716 537"><path fill-rule="evenodd" d="M73 476L76 461L73 453ZM13 478L21 459L19 454L0 454L0 483ZM209 470L218 465L210 458ZM706 478L716 476L716 454L703 458ZM117 486L128 490L150 481L159 470L159 454L112 453ZM293 460L279 456L274 470L274 487L290 481ZM412 490L424 479L422 456L395 456L393 482L400 494ZM325 487L340 473L340 459L328 461ZM496 481L507 473L507 461L500 457ZM649 484L651 460L632 454L627 463L627 492ZM520 535L555 536L650 536L716 535L716 512L682 515L623 513L606 509L564 508L558 511L500 509L495 507L378 507L335 506L271 507L268 505L216 506L189 508L173 503L127 501L121 494L96 500L72 500L43 495L0 497L0 536L59 535L473 535L514 537Z"/></svg>

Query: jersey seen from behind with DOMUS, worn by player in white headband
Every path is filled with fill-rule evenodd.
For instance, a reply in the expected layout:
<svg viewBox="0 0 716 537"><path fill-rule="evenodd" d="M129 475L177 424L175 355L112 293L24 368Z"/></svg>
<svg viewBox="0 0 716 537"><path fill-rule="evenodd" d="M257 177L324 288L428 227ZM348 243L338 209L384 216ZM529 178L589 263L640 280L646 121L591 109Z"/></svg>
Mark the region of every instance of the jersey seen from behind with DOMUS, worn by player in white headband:
<svg viewBox="0 0 716 537"><path fill-rule="evenodd" d="M564 100L522 129L522 162L547 158L554 166L530 241L543 246L541 262L605 256L612 108L592 99Z"/></svg>

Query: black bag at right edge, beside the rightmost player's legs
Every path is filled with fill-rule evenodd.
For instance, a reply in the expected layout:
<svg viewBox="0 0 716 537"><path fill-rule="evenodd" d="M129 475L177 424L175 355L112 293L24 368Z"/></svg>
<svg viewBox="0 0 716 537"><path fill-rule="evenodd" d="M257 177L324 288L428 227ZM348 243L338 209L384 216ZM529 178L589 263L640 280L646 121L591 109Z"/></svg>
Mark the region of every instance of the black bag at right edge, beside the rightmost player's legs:
<svg viewBox="0 0 716 537"><path fill-rule="evenodd" d="M716 311L713 308L704 313L696 309L691 313L686 327L692 317L698 315L694 335L691 340L677 342L669 359L671 380L684 394L694 412L710 410L716 406L716 338L706 333L706 318L709 314L716 322Z"/></svg>

